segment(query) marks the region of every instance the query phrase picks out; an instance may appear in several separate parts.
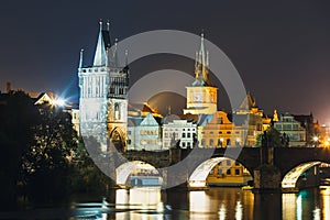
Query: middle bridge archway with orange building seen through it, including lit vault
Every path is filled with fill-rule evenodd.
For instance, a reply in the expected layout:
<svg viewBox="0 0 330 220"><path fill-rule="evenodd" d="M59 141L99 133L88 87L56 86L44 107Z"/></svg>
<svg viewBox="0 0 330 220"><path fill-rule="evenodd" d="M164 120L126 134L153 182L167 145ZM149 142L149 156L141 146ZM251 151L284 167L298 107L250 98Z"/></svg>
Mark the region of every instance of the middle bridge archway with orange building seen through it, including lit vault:
<svg viewBox="0 0 330 220"><path fill-rule="evenodd" d="M252 175L241 163L229 157L213 157L193 172L188 179L188 187L244 186L252 180Z"/></svg>

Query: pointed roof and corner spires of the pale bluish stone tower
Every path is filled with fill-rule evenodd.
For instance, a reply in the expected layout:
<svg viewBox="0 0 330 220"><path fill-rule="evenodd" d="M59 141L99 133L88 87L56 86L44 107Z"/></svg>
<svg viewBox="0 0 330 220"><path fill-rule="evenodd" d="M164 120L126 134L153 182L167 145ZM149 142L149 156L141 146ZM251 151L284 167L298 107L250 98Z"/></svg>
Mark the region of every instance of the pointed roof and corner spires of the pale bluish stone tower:
<svg viewBox="0 0 330 220"><path fill-rule="evenodd" d="M107 22L107 29L103 29L103 22L99 22L100 29L99 29L99 36L98 42L96 46L96 52L94 56L94 67L100 67L100 66L112 66L112 67L119 67L119 56L118 56L118 40L116 38L114 45L111 45L111 37L110 37L110 22ZM112 47L111 47L112 46ZM125 55L128 53L125 52ZM79 62L79 68L82 68L84 59L84 50L80 51L80 62ZM128 57L127 57L128 63Z"/></svg>

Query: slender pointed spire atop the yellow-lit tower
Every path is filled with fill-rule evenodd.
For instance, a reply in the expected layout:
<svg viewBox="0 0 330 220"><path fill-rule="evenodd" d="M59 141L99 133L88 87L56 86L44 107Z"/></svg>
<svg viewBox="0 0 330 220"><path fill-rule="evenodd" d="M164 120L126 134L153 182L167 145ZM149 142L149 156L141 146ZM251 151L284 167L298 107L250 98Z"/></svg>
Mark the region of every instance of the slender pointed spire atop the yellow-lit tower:
<svg viewBox="0 0 330 220"><path fill-rule="evenodd" d="M209 52L206 52L204 33L200 34L200 48L196 52L195 78L193 86L211 86L209 81Z"/></svg>

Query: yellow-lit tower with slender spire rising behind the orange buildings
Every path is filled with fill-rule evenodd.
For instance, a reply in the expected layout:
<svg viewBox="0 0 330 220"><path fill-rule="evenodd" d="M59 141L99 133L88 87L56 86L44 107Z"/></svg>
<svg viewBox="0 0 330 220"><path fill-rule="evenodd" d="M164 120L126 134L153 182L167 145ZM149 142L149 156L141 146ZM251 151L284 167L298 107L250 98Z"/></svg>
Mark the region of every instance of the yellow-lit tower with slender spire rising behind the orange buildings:
<svg viewBox="0 0 330 220"><path fill-rule="evenodd" d="M209 80L209 53L205 51L204 34L196 52L195 81L187 88L187 108L184 114L212 114L217 112L217 91Z"/></svg>

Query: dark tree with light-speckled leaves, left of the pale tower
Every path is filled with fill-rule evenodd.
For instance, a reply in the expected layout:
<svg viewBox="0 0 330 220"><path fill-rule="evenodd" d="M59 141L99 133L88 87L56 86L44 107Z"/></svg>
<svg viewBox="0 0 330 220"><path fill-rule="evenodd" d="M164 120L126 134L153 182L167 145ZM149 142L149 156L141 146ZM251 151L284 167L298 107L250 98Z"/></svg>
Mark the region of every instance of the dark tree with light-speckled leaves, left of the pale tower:
<svg viewBox="0 0 330 220"><path fill-rule="evenodd" d="M32 199L57 200L67 189L70 161L77 150L77 133L68 112L38 106L34 140L23 156L23 175Z"/></svg>

